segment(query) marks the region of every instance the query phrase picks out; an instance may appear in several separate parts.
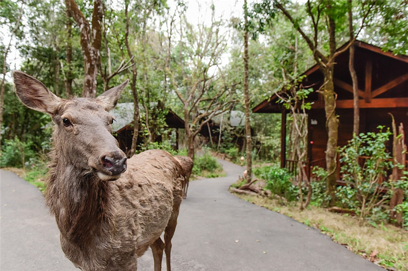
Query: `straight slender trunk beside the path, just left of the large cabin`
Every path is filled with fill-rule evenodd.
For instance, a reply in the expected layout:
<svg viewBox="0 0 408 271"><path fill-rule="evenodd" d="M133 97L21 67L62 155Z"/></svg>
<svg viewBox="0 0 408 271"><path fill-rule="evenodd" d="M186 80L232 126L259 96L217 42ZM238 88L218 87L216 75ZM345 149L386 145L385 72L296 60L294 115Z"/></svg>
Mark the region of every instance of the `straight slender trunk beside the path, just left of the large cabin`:
<svg viewBox="0 0 408 271"><path fill-rule="evenodd" d="M248 90L248 30L247 27L247 3L244 0L245 13L245 33L244 33L244 99L245 99L245 136L246 136L246 183L251 182L252 176L252 138L249 114L249 90Z"/></svg>

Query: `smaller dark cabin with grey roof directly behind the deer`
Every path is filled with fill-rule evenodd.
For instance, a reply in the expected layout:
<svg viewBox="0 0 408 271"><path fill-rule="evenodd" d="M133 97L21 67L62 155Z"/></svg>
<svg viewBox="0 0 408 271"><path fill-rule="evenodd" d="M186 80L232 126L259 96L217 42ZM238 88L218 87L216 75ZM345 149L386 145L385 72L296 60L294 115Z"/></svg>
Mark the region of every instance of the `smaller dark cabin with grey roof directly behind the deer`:
<svg viewBox="0 0 408 271"><path fill-rule="evenodd" d="M115 122L112 124L112 130L116 139L118 140L120 149L127 153L132 147L133 138L133 103L119 103L116 107L110 111L115 117ZM172 110L168 109L165 119L168 129L175 129L176 140L174 143L174 149L179 149L179 129L184 129L184 121ZM162 138L159 136L155 139L156 142L161 142ZM143 141L142 137L138 137L138 144Z"/></svg>

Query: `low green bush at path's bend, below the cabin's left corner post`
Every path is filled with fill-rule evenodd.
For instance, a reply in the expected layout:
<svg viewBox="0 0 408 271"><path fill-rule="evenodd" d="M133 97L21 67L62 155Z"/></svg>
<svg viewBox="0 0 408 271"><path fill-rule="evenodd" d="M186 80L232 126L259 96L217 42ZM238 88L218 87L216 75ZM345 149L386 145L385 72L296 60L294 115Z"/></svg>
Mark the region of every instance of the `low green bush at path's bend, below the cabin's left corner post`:
<svg viewBox="0 0 408 271"><path fill-rule="evenodd" d="M265 189L285 197L288 201L297 199L298 188L291 182L292 176L286 168L277 165L254 168L253 173L266 180Z"/></svg>

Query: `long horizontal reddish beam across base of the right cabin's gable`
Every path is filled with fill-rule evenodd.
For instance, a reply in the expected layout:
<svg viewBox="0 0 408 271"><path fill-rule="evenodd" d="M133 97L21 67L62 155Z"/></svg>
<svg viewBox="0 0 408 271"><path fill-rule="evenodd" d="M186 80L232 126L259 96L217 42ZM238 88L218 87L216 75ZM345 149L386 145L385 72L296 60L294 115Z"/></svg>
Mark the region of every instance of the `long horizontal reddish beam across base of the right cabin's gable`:
<svg viewBox="0 0 408 271"><path fill-rule="evenodd" d="M313 102L312 109L323 109L324 103L321 101ZM353 108L353 100L337 100L336 108ZM370 103L360 100L360 108L408 108L408 98L381 98L371 99Z"/></svg>

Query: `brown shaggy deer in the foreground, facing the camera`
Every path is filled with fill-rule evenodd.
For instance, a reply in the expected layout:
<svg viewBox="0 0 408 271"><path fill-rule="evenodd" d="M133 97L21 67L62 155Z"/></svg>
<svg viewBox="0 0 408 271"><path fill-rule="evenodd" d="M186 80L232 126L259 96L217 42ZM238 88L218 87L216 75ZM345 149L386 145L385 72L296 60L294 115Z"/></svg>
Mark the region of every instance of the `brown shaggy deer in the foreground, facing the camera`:
<svg viewBox="0 0 408 271"><path fill-rule="evenodd" d="M109 110L129 80L97 98L62 99L28 74L14 71L13 78L19 100L54 122L45 203L65 256L86 271L137 270L150 247L155 271L163 251L170 271L183 169L164 150L127 159L118 147Z"/></svg>

